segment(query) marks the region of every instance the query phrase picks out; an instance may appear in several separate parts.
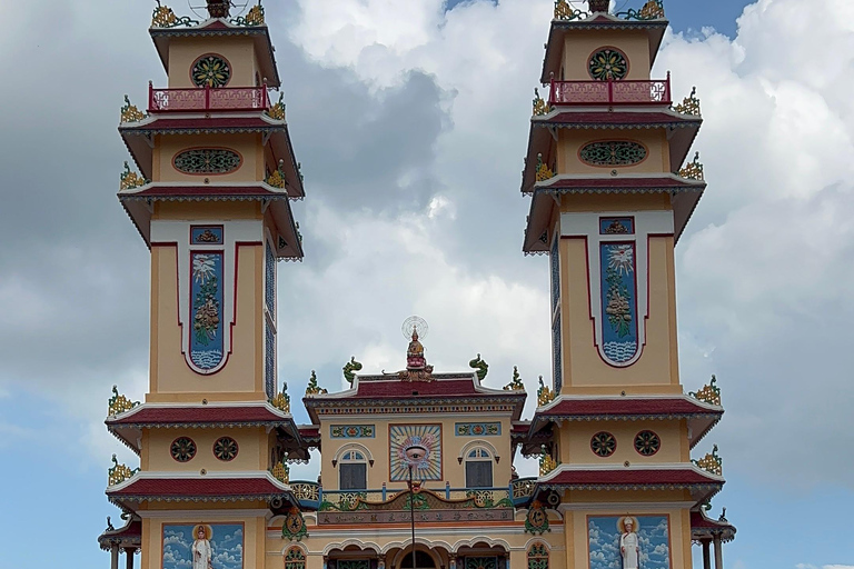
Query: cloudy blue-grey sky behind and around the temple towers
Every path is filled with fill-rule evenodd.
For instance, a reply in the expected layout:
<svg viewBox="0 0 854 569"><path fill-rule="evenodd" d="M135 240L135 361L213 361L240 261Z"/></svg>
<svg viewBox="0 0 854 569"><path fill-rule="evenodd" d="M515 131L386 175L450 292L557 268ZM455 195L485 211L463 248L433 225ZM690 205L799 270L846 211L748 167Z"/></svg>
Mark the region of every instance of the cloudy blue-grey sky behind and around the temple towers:
<svg viewBox="0 0 854 569"><path fill-rule="evenodd" d="M0 569L106 567L110 455L137 463L102 420L113 383L141 399L147 381L148 252L115 193L122 96L166 82L152 6L2 1ZM438 370L480 352L493 387L514 365L529 392L548 377L547 261L520 252L518 188L552 6L268 0L308 193L306 261L279 266L291 395L312 369L340 388L352 355L400 368L413 313ZM654 74L696 84L705 119L679 341L686 389L723 388L696 452L724 458L727 567L854 567L854 3L665 7Z"/></svg>

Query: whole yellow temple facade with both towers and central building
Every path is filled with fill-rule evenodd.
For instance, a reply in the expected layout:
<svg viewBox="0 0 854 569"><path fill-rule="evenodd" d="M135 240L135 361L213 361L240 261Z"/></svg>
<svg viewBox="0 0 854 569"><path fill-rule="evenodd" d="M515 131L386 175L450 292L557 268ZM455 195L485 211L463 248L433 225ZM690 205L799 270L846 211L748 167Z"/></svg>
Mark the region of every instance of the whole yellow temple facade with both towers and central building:
<svg viewBox="0 0 854 569"><path fill-rule="evenodd" d="M107 428L139 456L107 497L125 520L111 569L723 568L735 528L706 516L723 485L713 382L678 373L674 247L706 183L692 93L653 79L667 27L652 0L609 13L555 2L522 191L523 250L550 259L552 381L533 417L514 370L481 385L478 355L435 370L426 322L404 323L400 370L314 372L297 425L277 379L277 261L302 258L305 190L264 8L155 9L167 71L146 112L126 98L118 193L151 251L150 380L113 388ZM544 287L548 284L544 283ZM544 362L544 367L547 362ZM338 380L334 381L336 385ZM290 465L319 450L319 476ZM520 457L538 476L519 477ZM712 555L714 550L714 556Z"/></svg>

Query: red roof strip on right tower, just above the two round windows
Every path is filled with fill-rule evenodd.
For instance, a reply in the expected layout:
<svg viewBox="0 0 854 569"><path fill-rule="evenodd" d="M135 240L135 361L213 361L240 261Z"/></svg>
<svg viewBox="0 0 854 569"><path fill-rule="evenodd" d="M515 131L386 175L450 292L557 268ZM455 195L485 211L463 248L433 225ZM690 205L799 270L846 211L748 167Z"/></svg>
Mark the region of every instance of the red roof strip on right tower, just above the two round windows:
<svg viewBox="0 0 854 569"><path fill-rule="evenodd" d="M538 417L596 417L596 416L721 416L721 408L709 409L684 397L648 399L563 399L555 406L537 410Z"/></svg>

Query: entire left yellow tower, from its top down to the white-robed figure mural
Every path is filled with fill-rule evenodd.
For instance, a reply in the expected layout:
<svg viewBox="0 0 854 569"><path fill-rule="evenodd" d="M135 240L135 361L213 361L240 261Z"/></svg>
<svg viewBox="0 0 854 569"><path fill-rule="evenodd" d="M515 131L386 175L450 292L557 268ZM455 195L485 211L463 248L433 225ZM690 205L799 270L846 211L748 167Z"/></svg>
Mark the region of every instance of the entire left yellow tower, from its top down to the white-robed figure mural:
<svg viewBox="0 0 854 569"><path fill-rule="evenodd" d="M260 2L196 20L155 8L167 73L148 109L126 97L119 201L151 251L145 401L113 389L107 428L139 455L110 469L128 523L99 538L118 569L262 569L267 521L296 507L287 459L306 446L276 378L276 263L302 258L305 196Z"/></svg>

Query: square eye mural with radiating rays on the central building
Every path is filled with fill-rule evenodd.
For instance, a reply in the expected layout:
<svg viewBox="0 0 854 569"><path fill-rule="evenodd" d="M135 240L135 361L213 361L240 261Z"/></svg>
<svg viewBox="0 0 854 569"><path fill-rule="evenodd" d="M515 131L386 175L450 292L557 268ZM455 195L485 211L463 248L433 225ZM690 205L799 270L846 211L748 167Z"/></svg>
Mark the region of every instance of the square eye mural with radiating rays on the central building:
<svg viewBox="0 0 854 569"><path fill-rule="evenodd" d="M441 480L441 425L390 425L390 480L409 480L406 449L418 445L424 458L413 467L413 480Z"/></svg>

